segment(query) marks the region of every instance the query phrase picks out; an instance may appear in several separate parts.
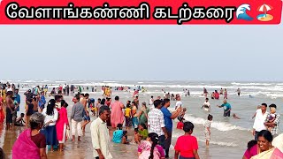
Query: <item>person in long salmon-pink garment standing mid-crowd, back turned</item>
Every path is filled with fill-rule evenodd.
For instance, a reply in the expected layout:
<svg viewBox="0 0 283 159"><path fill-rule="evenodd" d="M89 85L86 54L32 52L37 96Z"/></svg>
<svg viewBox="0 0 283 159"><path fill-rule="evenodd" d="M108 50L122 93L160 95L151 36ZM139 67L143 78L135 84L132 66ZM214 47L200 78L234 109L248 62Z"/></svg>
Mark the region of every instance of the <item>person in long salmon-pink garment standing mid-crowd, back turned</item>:
<svg viewBox="0 0 283 159"><path fill-rule="evenodd" d="M124 123L123 110L125 106L119 102L119 96L115 96L115 102L111 103L111 126L116 128L118 124Z"/></svg>

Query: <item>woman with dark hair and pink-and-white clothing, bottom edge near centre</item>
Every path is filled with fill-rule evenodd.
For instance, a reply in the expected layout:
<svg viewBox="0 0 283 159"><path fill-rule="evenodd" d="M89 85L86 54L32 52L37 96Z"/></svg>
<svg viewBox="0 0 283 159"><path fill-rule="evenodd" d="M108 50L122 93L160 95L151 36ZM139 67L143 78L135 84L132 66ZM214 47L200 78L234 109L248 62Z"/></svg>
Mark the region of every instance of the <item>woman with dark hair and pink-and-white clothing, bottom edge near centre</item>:
<svg viewBox="0 0 283 159"><path fill-rule="evenodd" d="M164 159L164 150L158 145L157 133L149 133L147 140L142 140L138 148L139 159Z"/></svg>

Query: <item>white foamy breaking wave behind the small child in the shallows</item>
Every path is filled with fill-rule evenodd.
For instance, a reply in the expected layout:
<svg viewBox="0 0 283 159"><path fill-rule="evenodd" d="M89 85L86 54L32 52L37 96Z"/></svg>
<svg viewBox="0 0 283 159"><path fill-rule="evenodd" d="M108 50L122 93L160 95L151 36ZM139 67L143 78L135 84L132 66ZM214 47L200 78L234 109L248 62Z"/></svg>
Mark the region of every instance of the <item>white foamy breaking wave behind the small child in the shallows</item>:
<svg viewBox="0 0 283 159"><path fill-rule="evenodd" d="M185 115L184 118L187 121L190 121L195 125L203 125L206 121L204 118L192 117L192 116L188 116L187 114ZM227 131L232 131L232 130L249 131L249 129L243 128L241 126L231 125L231 124L228 124L228 123L218 122L218 121L213 121L211 123L211 127L215 128L215 129L217 129L218 131L221 131L221 132L227 132Z"/></svg>

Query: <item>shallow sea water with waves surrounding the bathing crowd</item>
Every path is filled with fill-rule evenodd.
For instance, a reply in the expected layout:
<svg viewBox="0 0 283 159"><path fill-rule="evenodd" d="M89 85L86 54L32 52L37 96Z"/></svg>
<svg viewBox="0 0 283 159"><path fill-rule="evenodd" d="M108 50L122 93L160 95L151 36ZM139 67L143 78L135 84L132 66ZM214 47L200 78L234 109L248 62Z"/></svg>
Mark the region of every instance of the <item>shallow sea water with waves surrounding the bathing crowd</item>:
<svg viewBox="0 0 283 159"><path fill-rule="evenodd" d="M113 84L114 82L114 84ZM73 82L73 83L88 83L92 85L97 85L97 82L91 83L86 81ZM126 82L117 82L109 81L109 83L101 82L103 84L113 84L121 86ZM56 83L57 84L57 83ZM148 102L149 96L157 95L163 96L161 89L165 91L170 91L171 93L181 93L183 88L191 87L190 92L191 96L182 96L181 101L183 105L187 108L187 114L185 118L188 121L191 121L195 125L195 130L193 135L198 139L199 144L199 154L201 158L241 158L246 147L247 142L253 139L252 134L250 133L254 120L251 118L256 112L256 105L266 102L268 105L271 103L276 103L278 112L282 113L282 83L225 83L225 82L204 82L204 83L192 83L192 82L130 82L127 86L132 85L143 85L148 86L148 92L141 93L140 103ZM31 86L35 86L34 83L30 83ZM57 84L58 85L58 84ZM86 84L87 85L87 84ZM167 86L167 87L166 87ZM187 87L184 87L187 86ZM228 102L232 105L232 113L236 113L238 117L241 117L240 120L233 119L232 117L223 117L223 109L218 108L216 105L222 103L222 100L210 100L211 110L210 114L213 115L213 121L211 124L211 140L210 148L205 148L205 140L203 135L203 123L208 115L207 112L201 110L204 97L201 95L203 91L203 86L208 87L208 91L211 92L218 87L228 87ZM242 96L235 95L234 91L237 87L241 87L243 93ZM22 101L24 101L24 95L22 93L27 88L20 90L20 95ZM90 93L91 98L102 98L100 87L97 87L98 92ZM85 90L86 91L86 90ZM261 92L261 93L259 93ZM112 99L115 95L120 96L120 101L126 103L127 100L132 100L132 93L114 91ZM249 98L249 95L254 95L253 98ZM273 95L273 96L271 96ZM223 98L223 96L221 96ZM65 96L65 100L69 103L68 112L71 114L70 110L72 109L73 102L72 96ZM172 102L171 109L174 107L175 102ZM20 111L23 111L24 106L21 104ZM91 117L92 121L95 117ZM282 119L282 117L281 117ZM174 123L175 126L176 123ZM72 142L68 140L66 142L65 152L49 152L48 155L50 158L93 158L92 157L92 144L90 139L90 130L89 125L86 128L86 133L82 137L82 141ZM282 124L279 124L280 130L282 131ZM13 142L16 140L16 137L22 130L17 128L16 131L5 131L3 127L0 126L0 141L1 147L4 148L4 152L7 155L11 155L11 147ZM112 132L112 130L111 130ZM180 130L173 130L172 145L175 144L177 138L182 135L183 132ZM128 135L129 139L133 139L133 130ZM122 157L137 157L137 145L121 145L114 144L111 142L111 154L114 158ZM171 150L171 158L173 158L174 151Z"/></svg>

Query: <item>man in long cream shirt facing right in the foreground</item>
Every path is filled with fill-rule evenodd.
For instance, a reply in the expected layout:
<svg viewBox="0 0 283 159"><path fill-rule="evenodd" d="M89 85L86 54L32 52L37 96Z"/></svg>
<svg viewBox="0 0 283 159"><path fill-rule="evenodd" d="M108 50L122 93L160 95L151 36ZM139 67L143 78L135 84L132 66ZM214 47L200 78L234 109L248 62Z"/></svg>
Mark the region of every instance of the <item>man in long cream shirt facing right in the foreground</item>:
<svg viewBox="0 0 283 159"><path fill-rule="evenodd" d="M110 118L110 109L102 106L99 109L99 117L90 125L92 146L94 148L94 157L96 159L111 159L110 136L106 121Z"/></svg>

